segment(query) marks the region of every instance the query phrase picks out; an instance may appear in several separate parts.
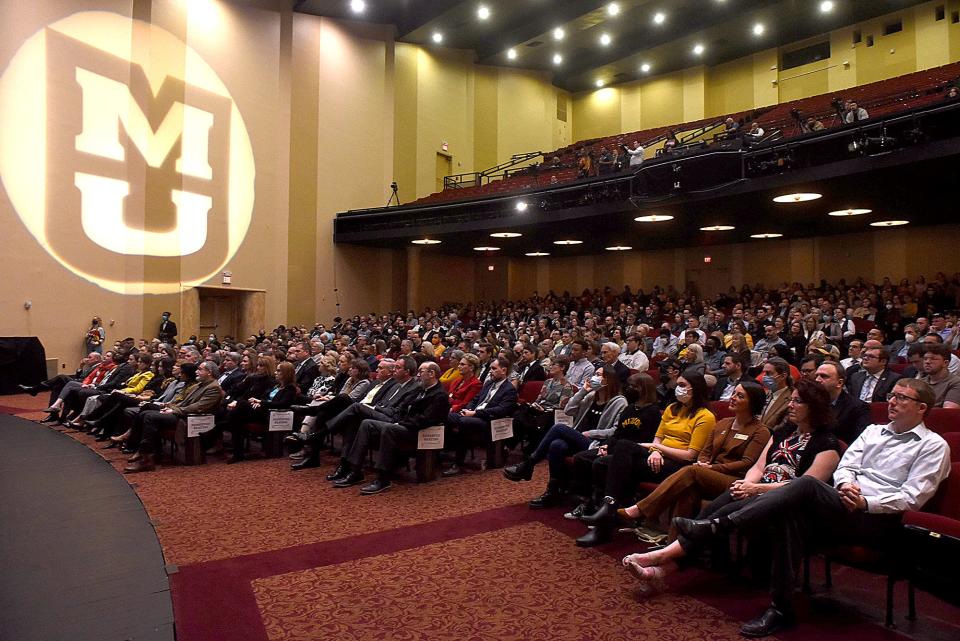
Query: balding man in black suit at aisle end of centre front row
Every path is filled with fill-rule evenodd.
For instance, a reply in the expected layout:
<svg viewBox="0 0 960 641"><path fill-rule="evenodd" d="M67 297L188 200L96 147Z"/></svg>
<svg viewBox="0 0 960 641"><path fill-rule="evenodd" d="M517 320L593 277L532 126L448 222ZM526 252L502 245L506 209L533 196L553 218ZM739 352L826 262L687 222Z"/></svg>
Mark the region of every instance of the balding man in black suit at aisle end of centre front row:
<svg viewBox="0 0 960 641"><path fill-rule="evenodd" d="M334 482L334 487L351 487L363 480L364 458L374 438L379 437L380 448L374 462L377 478L360 488L360 493L379 494L390 489L390 472L396 463L397 452L415 450L417 433L442 424L450 411L450 401L440 385L440 375L439 365L432 361L423 363L417 370L417 377L420 379L419 391L396 422L365 419L360 424L357 438L349 448L344 448L346 455L341 463L343 475L330 479ZM507 387L513 388L509 384Z"/></svg>

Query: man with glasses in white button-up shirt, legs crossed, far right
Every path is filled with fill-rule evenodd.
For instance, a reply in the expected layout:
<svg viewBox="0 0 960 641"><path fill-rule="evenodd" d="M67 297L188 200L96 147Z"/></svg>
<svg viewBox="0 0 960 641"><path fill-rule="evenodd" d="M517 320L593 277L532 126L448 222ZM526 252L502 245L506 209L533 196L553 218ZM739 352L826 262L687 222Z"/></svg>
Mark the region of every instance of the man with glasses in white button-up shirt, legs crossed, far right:
<svg viewBox="0 0 960 641"><path fill-rule="evenodd" d="M903 513L922 508L950 473L946 441L923 424L934 403L930 385L902 378L886 398L890 422L868 426L850 445L832 486L801 476L728 516L674 519L685 549L732 530L760 533L771 542L773 602L743 626L745 636L766 636L791 624L790 597L805 550L820 542L870 541L895 553Z"/></svg>

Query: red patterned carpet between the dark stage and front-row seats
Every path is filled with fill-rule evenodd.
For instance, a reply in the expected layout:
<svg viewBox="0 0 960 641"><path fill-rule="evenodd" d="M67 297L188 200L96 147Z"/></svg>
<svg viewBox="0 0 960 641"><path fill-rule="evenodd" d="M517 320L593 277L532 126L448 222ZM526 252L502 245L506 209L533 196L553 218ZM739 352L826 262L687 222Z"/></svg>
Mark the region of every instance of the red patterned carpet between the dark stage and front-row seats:
<svg viewBox="0 0 960 641"><path fill-rule="evenodd" d="M4 397L0 412L39 419L45 405ZM116 469L125 465L117 450L66 435ZM582 550L572 538L585 529L562 509L527 509L544 469L531 483L491 470L361 497L323 480L333 463L325 457L320 469L292 472L286 458L228 466L214 457L127 477L176 566L180 641L732 639L767 602L763 590L702 571L641 598L619 566L641 547L632 536ZM880 616L882 582L848 572L834 576L851 591L833 594L852 594L852 606L801 600L808 621L780 638L904 639L869 622ZM901 614L904 604L898 594ZM956 609L921 594L919 610L905 628L913 638L960 634Z"/></svg>

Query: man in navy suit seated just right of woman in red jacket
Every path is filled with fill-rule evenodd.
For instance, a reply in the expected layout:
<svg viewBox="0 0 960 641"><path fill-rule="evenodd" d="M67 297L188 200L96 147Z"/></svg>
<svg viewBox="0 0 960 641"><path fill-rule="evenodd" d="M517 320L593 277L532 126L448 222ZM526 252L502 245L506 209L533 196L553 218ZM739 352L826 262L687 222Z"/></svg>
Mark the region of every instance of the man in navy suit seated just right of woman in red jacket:
<svg viewBox="0 0 960 641"><path fill-rule="evenodd" d="M480 393L459 413L446 417L444 449L454 449L456 459L453 465L443 471L443 476L462 473L470 443L468 432L489 434L491 421L513 416L517 407L517 390L507 380L509 371L510 362L507 359L499 356L492 359L490 375Z"/></svg>

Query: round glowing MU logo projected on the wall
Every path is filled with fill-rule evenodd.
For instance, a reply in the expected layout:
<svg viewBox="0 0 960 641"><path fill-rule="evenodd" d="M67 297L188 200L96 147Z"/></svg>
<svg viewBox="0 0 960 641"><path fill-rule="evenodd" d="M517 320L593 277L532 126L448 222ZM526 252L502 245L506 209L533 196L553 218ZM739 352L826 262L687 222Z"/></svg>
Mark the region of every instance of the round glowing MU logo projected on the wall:
<svg viewBox="0 0 960 641"><path fill-rule="evenodd" d="M120 293L217 274L250 225L250 139L226 87L159 27L78 13L0 79L0 175L63 266Z"/></svg>

